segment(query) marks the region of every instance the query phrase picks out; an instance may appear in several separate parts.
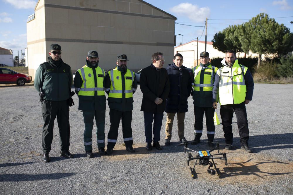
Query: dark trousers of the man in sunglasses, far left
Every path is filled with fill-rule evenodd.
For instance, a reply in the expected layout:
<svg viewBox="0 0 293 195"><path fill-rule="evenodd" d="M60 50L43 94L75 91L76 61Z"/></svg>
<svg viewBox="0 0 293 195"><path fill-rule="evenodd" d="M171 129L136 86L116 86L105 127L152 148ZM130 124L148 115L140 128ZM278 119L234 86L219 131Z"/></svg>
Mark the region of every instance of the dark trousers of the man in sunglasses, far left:
<svg viewBox="0 0 293 195"><path fill-rule="evenodd" d="M69 150L69 105L67 101L43 101L42 115L44 120L42 146L43 152L50 152L53 141L54 120L57 116L61 151Z"/></svg>

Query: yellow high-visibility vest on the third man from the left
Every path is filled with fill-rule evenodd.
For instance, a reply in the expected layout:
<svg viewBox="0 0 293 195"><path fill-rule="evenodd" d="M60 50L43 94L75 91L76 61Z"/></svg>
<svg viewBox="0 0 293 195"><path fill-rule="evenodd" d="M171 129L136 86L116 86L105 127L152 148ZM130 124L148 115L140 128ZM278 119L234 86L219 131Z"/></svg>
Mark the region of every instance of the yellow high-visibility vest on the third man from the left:
<svg viewBox="0 0 293 195"><path fill-rule="evenodd" d="M121 72L117 70L117 67L109 72L111 86L109 97L112 98L122 98L122 79L121 79ZM132 89L132 82L134 80L134 72L127 69L125 75L125 98L132 97L133 89Z"/></svg>

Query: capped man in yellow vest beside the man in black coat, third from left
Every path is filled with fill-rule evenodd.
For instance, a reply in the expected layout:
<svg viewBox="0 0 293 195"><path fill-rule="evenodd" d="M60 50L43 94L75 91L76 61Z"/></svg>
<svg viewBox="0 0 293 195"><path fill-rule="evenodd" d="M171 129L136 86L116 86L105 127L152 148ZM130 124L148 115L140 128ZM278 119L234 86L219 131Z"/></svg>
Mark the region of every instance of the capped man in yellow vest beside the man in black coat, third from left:
<svg viewBox="0 0 293 195"><path fill-rule="evenodd" d="M117 56L117 67L108 71L105 77L105 92L108 94L110 108L110 130L108 133L107 154L113 152L117 142L120 119L122 120L122 134L126 150L135 152L132 147L132 94L137 89L135 73L127 68L127 56Z"/></svg>

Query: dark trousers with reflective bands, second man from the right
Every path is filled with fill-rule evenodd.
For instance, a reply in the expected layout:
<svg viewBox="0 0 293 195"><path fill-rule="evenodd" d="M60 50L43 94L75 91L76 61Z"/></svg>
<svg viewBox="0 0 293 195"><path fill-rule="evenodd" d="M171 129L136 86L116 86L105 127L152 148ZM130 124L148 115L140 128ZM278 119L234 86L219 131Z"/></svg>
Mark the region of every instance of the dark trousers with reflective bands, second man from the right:
<svg viewBox="0 0 293 195"><path fill-rule="evenodd" d="M212 107L198 107L194 106L194 136L196 140L200 140L202 136L202 122L203 115L205 113L205 123L207 125L207 140L214 141L215 136L215 124L214 124L214 112Z"/></svg>

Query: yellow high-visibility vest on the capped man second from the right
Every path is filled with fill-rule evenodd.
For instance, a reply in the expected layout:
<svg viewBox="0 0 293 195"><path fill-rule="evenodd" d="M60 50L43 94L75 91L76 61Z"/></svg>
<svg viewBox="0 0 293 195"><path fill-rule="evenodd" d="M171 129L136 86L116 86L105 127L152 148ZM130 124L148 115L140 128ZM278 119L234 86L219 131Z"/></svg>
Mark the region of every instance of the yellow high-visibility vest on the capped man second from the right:
<svg viewBox="0 0 293 195"><path fill-rule="evenodd" d="M192 68L192 72L194 75L192 87L194 91L200 91L200 87L203 87L203 91L212 91L214 84L214 75L218 70L217 67L212 66L211 64L207 67L203 67L198 65ZM203 82L200 82L200 73L201 71L205 71Z"/></svg>

